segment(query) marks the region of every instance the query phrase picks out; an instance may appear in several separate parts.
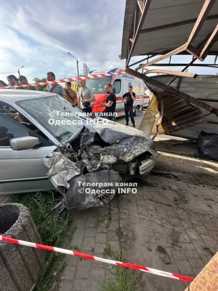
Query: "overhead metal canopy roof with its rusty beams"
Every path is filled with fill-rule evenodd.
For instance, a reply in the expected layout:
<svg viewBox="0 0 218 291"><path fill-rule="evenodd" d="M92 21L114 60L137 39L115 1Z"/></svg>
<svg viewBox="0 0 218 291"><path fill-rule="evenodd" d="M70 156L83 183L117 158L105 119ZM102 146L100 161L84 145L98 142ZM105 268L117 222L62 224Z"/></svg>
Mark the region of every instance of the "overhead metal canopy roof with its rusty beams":
<svg viewBox="0 0 218 291"><path fill-rule="evenodd" d="M126 0L121 59L191 54L218 55L218 1ZM138 68L139 69L139 68Z"/></svg>

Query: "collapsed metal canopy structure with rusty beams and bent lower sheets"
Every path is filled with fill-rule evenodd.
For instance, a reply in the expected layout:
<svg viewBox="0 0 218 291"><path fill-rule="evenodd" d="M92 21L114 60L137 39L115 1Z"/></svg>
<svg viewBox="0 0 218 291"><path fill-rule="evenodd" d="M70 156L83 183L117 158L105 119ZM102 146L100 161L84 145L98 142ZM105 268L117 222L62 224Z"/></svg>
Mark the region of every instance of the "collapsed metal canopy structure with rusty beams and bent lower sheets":
<svg viewBox="0 0 218 291"><path fill-rule="evenodd" d="M171 57L174 55L189 55L192 56L192 60L188 64L173 64L171 63ZM205 58L209 55L215 56L213 64L204 64ZM130 64L133 56L146 57ZM126 0L120 58L126 59L125 71L144 80L148 88L154 93L156 97L155 111L160 113L158 119L153 118L153 121L156 119L154 122L157 132L159 132L158 128L162 127L160 133L174 134L176 132L178 134L179 130L191 127L193 124L210 122L206 117L210 114L218 116L218 107L214 106L218 101L217 97L212 97L213 100L210 100L211 93L209 93L208 96L210 97L207 96L203 99L193 97L182 89L179 90L183 79L195 80L197 77L197 74L186 72L189 66L218 68L218 65L216 65L217 56L218 1ZM167 58L170 58L169 64L158 63ZM201 61L202 64L195 64L197 60ZM144 61L145 63L141 64ZM137 64L140 65L135 70L131 69L132 66ZM181 71L162 70L160 68L143 72L145 67L152 65L184 65L185 67ZM140 70L142 72L139 72ZM156 77L147 76L147 74L156 72L161 73L161 75ZM163 78L163 74L168 78ZM170 76L172 79L169 79ZM216 80L218 80L216 75L211 76L211 78L217 78ZM208 80L204 79L204 82ZM199 94L201 94L200 87ZM177 107L169 107L169 100L171 100L171 103L175 101ZM187 110L189 110L190 115L187 114ZM205 110L207 111L206 114ZM187 119L185 123L184 118ZM147 120L146 128L150 121ZM212 124L218 125L217 118L216 120L213 119ZM151 125L149 130L151 134Z"/></svg>

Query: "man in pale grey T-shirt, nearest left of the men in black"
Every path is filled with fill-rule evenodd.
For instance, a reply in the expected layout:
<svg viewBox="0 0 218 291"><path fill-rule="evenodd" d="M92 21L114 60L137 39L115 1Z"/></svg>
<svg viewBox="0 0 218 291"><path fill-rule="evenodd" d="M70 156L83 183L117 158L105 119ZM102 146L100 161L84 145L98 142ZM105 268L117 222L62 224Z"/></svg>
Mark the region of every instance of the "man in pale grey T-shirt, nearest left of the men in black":
<svg viewBox="0 0 218 291"><path fill-rule="evenodd" d="M86 86L86 80L80 80L79 84L81 88L78 90L78 108L87 113L92 113L93 107L91 102L96 100L93 90Z"/></svg>

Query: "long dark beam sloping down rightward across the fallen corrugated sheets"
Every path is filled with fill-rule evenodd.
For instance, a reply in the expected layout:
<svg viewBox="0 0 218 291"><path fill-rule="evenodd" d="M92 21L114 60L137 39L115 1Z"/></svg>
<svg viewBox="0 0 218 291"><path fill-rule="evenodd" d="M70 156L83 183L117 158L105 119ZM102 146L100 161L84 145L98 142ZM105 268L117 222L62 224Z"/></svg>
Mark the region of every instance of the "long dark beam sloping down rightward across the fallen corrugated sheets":
<svg viewBox="0 0 218 291"><path fill-rule="evenodd" d="M129 73L130 75L133 75L137 78L140 78L143 81L148 82L149 84L152 84L158 88L161 88L162 90L164 90L166 92L180 96L180 97L184 98L185 100L187 100L188 102L193 103L193 104L195 104L195 105L197 105L197 106L199 106L199 107L201 107L201 108L203 108L211 113L214 113L218 116L218 108L216 108L214 106L210 106L209 104L207 104L203 101L200 101L195 97L192 97L192 96L190 96L184 92L181 92L179 90L176 90L176 89L174 89L174 88L172 88L172 87L170 87L170 86L168 86L168 85L166 85L166 84L164 84L164 83L162 83L162 82L160 82L152 77L148 77L148 76L145 76L139 72L136 72L133 69L125 68L125 71L126 71L126 73Z"/></svg>

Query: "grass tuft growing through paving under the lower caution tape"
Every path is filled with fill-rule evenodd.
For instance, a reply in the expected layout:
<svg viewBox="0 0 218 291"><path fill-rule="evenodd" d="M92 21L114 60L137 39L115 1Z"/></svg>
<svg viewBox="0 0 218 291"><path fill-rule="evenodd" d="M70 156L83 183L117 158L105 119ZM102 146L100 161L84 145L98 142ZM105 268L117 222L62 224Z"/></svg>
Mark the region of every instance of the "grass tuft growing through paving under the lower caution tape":
<svg viewBox="0 0 218 291"><path fill-rule="evenodd" d="M124 252L121 248L113 254L115 260L124 261ZM114 279L104 282L101 291L134 291L141 283L139 271L116 266L111 273Z"/></svg>

